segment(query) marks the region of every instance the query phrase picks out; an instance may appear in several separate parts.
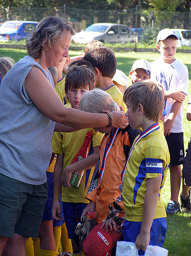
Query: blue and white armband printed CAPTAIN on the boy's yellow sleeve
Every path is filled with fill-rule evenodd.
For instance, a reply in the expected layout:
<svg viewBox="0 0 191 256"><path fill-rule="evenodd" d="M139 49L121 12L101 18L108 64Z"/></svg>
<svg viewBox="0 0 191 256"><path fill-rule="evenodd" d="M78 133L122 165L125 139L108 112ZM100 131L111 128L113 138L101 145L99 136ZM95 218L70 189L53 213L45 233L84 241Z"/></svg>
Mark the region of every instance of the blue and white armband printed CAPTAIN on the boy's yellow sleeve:
<svg viewBox="0 0 191 256"><path fill-rule="evenodd" d="M145 158L146 173L162 173L162 160L155 158Z"/></svg>

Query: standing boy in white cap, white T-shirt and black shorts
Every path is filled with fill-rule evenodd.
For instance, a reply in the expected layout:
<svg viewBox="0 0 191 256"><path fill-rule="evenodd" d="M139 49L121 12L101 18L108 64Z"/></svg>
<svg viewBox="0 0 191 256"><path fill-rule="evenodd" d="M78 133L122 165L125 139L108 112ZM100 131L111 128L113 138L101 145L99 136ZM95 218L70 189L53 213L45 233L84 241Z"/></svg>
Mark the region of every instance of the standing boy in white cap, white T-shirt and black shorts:
<svg viewBox="0 0 191 256"><path fill-rule="evenodd" d="M165 90L165 125L171 161L171 200L166 213L180 212L178 196L181 184L181 164L184 157L183 146L183 100L188 91L188 69L175 59L178 36L172 29L162 29L157 36L160 58L151 63L151 79L157 80ZM185 186L182 184L182 186Z"/></svg>

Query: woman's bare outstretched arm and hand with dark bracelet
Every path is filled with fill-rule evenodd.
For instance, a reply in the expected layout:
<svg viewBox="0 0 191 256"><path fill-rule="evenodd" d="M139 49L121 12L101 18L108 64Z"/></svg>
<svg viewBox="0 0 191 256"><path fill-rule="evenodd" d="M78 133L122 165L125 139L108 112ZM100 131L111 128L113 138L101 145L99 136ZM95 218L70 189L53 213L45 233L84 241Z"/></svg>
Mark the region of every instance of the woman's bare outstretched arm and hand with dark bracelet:
<svg viewBox="0 0 191 256"><path fill-rule="evenodd" d="M44 73L36 66L33 66L25 79L25 90L38 109L54 122L77 129L109 125L106 114L88 113L65 107ZM123 113L110 112L110 114L113 127L124 129L128 125L128 120Z"/></svg>

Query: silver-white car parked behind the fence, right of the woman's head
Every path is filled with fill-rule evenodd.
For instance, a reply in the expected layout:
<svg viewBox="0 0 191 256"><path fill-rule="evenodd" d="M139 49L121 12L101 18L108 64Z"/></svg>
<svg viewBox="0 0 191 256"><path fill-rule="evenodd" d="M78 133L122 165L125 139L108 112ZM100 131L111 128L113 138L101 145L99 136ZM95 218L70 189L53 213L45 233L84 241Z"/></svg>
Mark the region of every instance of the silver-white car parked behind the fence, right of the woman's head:
<svg viewBox="0 0 191 256"><path fill-rule="evenodd" d="M95 23L76 33L72 39L80 44L88 44L94 40L102 43L131 43L136 41L136 34L123 24Z"/></svg>

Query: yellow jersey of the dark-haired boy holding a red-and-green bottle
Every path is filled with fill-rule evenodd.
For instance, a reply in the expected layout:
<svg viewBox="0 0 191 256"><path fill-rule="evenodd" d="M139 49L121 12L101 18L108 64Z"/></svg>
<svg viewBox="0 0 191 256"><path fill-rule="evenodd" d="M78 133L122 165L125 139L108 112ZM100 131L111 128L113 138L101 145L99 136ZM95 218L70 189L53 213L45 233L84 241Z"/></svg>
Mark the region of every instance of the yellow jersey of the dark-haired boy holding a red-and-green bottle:
<svg viewBox="0 0 191 256"><path fill-rule="evenodd" d="M67 107L70 106L68 103ZM63 158L63 169L72 161L76 154L81 149L84 139L88 131L93 132L93 137L89 149L89 153L93 153L93 147L100 146L103 138L103 134L95 132L93 128L82 129L76 132L55 132L52 138L52 151L58 154L65 154ZM88 193L91 177L94 172L94 168L86 170L83 175L79 188L75 187L62 187L62 201L68 203L89 203L85 197Z"/></svg>

